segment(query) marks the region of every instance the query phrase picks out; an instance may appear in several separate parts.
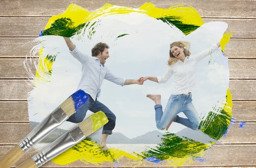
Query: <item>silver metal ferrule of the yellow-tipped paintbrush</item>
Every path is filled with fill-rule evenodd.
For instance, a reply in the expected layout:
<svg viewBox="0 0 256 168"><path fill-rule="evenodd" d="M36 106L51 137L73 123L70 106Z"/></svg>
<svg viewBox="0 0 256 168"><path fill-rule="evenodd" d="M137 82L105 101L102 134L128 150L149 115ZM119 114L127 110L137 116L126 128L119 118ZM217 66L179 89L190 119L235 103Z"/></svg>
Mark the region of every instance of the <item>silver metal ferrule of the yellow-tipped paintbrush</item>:
<svg viewBox="0 0 256 168"><path fill-rule="evenodd" d="M43 151L34 155L32 159L34 160L35 164L40 167L41 165L44 165L44 163L58 156L73 145L76 145L84 138L85 135L83 134L79 126L76 126L72 130L68 131L57 140L52 142L46 148L44 148Z"/></svg>

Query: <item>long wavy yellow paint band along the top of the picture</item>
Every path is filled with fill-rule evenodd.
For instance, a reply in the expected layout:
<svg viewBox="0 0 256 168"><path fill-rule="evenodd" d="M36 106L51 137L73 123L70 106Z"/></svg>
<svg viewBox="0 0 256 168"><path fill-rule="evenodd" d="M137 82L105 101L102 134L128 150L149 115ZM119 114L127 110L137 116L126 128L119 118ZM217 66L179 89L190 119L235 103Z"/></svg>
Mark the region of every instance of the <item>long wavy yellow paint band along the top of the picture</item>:
<svg viewBox="0 0 256 168"><path fill-rule="evenodd" d="M192 6L175 5L168 9L156 8L152 3L144 3L139 9L113 6L106 3L102 8L90 12L87 9L82 8L76 4L70 4L65 12L62 14L52 16L45 29L50 28L51 24L63 17L70 18L74 22L74 27L79 24L90 22L93 19L100 16L108 16L113 14L129 14L131 12L137 12L146 14L153 18L165 17L165 16L176 16L183 19L183 23L201 26L204 24L198 12L192 8Z"/></svg>

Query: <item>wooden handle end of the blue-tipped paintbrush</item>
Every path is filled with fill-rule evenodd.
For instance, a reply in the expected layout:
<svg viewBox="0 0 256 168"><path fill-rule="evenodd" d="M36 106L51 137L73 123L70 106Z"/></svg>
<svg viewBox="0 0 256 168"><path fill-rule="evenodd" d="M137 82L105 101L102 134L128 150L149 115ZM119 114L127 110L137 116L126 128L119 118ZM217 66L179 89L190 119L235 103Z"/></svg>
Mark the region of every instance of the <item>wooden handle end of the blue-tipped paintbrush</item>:
<svg viewBox="0 0 256 168"><path fill-rule="evenodd" d="M16 145L11 149L11 151L9 151L6 155L3 156L3 158L0 159L0 168L11 167L24 154L25 152L20 148L20 146Z"/></svg>

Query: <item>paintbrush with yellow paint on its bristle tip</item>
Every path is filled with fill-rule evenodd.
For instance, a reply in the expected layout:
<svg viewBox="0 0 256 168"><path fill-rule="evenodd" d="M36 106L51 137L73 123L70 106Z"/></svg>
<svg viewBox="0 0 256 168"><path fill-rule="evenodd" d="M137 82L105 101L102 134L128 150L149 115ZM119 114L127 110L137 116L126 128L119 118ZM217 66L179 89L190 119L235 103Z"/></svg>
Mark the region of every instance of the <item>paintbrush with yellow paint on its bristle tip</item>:
<svg viewBox="0 0 256 168"><path fill-rule="evenodd" d="M24 162L23 164L19 165L16 168L41 167L49 160L58 156L67 149L71 148L73 145L76 145L81 140L84 140L84 138L95 132L97 129L105 125L107 122L108 118L102 111L99 111L91 115L83 122L80 122L79 125L77 125L75 128L59 137L57 140L55 140L46 148L44 148L41 152L34 155L32 158L30 158L29 160L27 160L26 162Z"/></svg>

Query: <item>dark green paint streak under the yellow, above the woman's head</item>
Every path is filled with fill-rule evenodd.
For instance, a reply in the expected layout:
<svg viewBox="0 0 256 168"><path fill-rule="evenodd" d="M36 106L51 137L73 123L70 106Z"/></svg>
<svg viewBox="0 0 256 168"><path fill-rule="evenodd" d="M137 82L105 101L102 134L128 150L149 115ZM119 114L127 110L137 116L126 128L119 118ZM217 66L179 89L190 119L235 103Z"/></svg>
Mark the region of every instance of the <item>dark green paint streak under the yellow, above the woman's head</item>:
<svg viewBox="0 0 256 168"><path fill-rule="evenodd" d="M188 25L183 23L183 18L182 17L177 17L177 16L166 16L166 17L159 17L157 20L162 20L164 23L171 24L176 26L177 28L180 29L184 34L188 35L195 31L198 27L196 25Z"/></svg>

